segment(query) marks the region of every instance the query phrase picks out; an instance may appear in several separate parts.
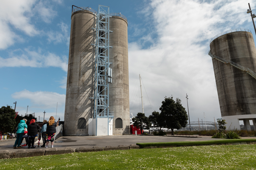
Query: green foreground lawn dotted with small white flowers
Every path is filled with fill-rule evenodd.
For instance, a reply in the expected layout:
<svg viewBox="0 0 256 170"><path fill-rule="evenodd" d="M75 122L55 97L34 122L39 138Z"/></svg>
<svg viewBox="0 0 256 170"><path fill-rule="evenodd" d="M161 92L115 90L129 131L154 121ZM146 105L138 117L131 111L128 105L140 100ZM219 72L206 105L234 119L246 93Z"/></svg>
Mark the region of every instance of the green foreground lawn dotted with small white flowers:
<svg viewBox="0 0 256 170"><path fill-rule="evenodd" d="M256 145L216 145L0 159L0 169L254 170Z"/></svg>

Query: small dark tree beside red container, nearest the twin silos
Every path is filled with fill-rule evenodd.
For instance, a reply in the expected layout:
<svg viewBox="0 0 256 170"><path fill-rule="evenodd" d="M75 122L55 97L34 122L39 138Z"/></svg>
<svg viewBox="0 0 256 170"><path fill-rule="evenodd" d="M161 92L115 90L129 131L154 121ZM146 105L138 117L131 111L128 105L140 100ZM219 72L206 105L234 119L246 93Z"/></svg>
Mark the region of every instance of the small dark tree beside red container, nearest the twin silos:
<svg viewBox="0 0 256 170"><path fill-rule="evenodd" d="M138 113L137 116L132 118L134 122L133 125L140 128L141 134L143 128L149 129L151 127L151 123L145 113Z"/></svg>

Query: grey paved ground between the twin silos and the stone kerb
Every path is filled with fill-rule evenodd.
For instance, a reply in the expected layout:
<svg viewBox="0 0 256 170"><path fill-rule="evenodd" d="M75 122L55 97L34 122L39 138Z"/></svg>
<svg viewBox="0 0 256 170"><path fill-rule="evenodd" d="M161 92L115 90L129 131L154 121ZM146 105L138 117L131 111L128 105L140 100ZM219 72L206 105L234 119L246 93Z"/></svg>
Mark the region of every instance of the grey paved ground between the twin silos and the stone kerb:
<svg viewBox="0 0 256 170"><path fill-rule="evenodd" d="M208 141L208 140L221 140L212 139L211 136L202 136L202 138L185 138L185 137L171 137L171 136L133 136L133 135L120 135L120 136L63 136L54 142L55 148L92 148L118 146L118 145L131 145L144 142L178 142L178 141ZM25 139L24 139L25 141ZM0 151L13 151L15 140L0 142ZM40 142L42 145L42 141ZM35 146L38 146L35 142ZM50 146L50 143L49 143ZM27 148L27 147L24 147ZM42 147L30 150L42 149Z"/></svg>

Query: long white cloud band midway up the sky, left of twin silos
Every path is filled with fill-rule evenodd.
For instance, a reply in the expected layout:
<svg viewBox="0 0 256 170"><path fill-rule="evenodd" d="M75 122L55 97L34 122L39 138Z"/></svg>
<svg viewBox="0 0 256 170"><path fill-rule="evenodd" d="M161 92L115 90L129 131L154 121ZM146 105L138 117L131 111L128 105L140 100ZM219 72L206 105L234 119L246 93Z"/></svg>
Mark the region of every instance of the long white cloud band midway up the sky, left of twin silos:
<svg viewBox="0 0 256 170"><path fill-rule="evenodd" d="M15 52L20 52L21 54L14 54ZM8 58L0 57L0 67L20 67L20 66L30 66L30 67L59 67L64 71L68 71L68 57L67 56L57 56L53 53L41 54L39 51L30 51L29 49L16 50Z"/></svg>

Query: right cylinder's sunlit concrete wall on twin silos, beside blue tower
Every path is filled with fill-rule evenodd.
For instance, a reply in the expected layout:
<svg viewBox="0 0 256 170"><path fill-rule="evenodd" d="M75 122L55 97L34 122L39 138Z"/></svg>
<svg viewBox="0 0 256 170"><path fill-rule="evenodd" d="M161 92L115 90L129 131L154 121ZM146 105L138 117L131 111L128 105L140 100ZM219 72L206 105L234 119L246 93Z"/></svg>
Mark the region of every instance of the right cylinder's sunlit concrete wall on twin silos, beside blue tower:
<svg viewBox="0 0 256 170"><path fill-rule="evenodd" d="M130 133L129 71L127 21L118 16L110 18L109 42L112 84L109 85L109 111L114 112L113 134ZM123 120L123 128L115 128L115 120Z"/></svg>

